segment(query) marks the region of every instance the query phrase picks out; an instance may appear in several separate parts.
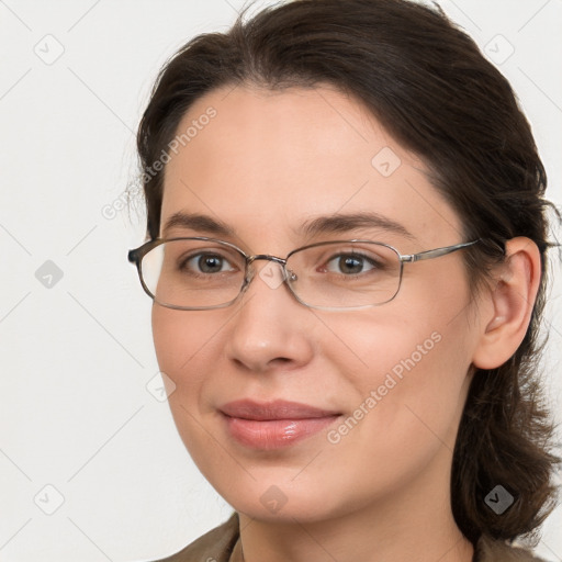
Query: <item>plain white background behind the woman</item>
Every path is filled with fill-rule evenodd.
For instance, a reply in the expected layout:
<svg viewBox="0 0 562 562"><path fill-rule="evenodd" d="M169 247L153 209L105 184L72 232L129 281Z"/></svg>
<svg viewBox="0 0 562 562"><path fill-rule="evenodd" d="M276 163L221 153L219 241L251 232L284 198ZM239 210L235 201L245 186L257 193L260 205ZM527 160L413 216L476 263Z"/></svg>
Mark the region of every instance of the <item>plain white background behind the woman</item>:
<svg viewBox="0 0 562 562"><path fill-rule="evenodd" d="M559 204L562 1L440 3L512 81ZM241 4L0 0L2 561L156 559L231 513L147 390L158 386L150 301L126 260L144 216L123 209L123 192L157 70L195 34L225 31ZM547 367L560 409L559 270ZM559 508L537 549L548 560L562 560L561 529Z"/></svg>

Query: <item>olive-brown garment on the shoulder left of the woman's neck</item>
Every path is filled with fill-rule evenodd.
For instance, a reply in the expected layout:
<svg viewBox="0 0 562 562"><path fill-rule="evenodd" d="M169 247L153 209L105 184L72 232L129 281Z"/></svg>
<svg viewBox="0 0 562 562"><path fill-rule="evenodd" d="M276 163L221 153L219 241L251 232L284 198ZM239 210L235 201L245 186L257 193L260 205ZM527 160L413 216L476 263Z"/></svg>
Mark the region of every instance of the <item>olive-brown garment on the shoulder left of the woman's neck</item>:
<svg viewBox="0 0 562 562"><path fill-rule="evenodd" d="M210 530L176 554L156 562L228 562L238 540L238 515Z"/></svg>

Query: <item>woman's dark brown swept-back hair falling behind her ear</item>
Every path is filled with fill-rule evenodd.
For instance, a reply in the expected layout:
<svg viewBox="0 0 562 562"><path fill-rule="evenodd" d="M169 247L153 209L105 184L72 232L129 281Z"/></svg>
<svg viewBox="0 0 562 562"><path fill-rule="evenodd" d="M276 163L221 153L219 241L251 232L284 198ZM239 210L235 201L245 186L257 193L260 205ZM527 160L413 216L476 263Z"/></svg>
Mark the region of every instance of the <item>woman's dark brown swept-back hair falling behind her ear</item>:
<svg viewBox="0 0 562 562"><path fill-rule="evenodd" d="M362 102L431 170L457 211L473 294L506 240L527 236L542 258L542 281L524 341L493 370L475 370L452 462L452 512L473 543L482 535L529 535L554 507L553 425L544 409L538 341L546 299L547 177L530 126L508 81L475 43L439 10L409 0L295 0L227 33L200 35L162 68L144 113L137 145L147 234L157 238L166 151L195 100L225 86L270 90L331 85ZM150 169L150 173L146 171ZM560 216L557 213L557 216ZM496 515L485 496L502 485L515 503Z"/></svg>

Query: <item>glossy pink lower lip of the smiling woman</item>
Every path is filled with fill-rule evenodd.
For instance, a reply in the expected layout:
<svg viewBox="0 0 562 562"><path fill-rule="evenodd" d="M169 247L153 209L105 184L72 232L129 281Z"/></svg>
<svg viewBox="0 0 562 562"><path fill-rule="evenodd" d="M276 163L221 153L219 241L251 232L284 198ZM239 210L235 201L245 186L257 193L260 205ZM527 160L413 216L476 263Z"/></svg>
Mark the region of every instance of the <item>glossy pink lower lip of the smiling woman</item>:
<svg viewBox="0 0 562 562"><path fill-rule="evenodd" d="M322 431L339 416L304 419L244 419L225 416L228 431L241 445L254 449L281 449Z"/></svg>

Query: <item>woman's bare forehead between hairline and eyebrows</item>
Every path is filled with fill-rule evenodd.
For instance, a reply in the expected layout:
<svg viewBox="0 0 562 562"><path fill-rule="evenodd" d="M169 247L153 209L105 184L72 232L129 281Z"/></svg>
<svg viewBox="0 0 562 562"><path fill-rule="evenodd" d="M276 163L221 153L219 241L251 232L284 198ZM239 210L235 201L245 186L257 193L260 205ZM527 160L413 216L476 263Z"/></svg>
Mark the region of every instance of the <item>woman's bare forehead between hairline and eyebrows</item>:
<svg viewBox="0 0 562 562"><path fill-rule="evenodd" d="M315 216L369 212L426 244L459 240L460 221L424 162L359 102L328 87L214 90L190 108L177 139L162 225L186 211L240 236L276 233L296 244L300 226Z"/></svg>

